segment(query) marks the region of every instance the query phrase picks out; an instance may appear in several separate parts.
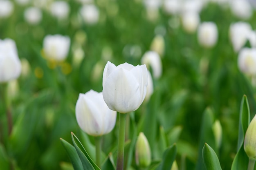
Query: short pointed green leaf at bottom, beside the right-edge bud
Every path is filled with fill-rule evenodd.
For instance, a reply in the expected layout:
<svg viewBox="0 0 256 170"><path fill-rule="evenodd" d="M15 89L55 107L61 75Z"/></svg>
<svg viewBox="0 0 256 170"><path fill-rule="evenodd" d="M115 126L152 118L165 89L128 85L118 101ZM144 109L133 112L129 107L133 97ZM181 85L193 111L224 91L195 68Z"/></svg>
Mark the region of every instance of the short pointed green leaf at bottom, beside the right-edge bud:
<svg viewBox="0 0 256 170"><path fill-rule="evenodd" d="M236 157L233 160L231 170L246 170L249 163L249 158L247 157L244 147L240 147L239 151L236 153Z"/></svg>

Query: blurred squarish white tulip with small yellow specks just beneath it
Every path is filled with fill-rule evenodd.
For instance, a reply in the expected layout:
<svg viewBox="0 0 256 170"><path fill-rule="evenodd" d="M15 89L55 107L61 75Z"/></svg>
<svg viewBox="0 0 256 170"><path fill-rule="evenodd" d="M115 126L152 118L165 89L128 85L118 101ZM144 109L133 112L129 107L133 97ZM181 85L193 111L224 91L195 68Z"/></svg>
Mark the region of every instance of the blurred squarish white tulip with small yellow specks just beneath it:
<svg viewBox="0 0 256 170"><path fill-rule="evenodd" d="M45 57L63 61L67 57L70 48L70 38L63 35L46 35L43 40L43 50Z"/></svg>

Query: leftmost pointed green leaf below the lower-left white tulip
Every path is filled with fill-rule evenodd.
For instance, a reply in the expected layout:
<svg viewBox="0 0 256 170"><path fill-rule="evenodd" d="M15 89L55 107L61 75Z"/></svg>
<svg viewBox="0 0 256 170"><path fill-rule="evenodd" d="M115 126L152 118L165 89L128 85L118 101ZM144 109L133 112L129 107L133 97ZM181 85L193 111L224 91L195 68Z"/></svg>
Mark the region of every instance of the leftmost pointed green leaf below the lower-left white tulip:
<svg viewBox="0 0 256 170"><path fill-rule="evenodd" d="M74 167L74 170L83 170L83 165L81 163L79 155L76 152L76 148L62 138L61 144L65 148L67 155L70 158L70 161Z"/></svg>

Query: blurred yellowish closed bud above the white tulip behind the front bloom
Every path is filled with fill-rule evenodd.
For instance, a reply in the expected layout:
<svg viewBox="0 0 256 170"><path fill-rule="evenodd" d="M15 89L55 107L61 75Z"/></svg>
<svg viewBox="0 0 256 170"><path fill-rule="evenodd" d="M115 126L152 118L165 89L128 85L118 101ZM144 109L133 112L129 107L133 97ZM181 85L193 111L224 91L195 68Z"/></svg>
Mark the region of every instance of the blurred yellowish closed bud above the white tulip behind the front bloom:
<svg viewBox="0 0 256 170"><path fill-rule="evenodd" d="M164 37L162 35L156 35L153 39L150 50L157 52L160 56L164 54Z"/></svg>

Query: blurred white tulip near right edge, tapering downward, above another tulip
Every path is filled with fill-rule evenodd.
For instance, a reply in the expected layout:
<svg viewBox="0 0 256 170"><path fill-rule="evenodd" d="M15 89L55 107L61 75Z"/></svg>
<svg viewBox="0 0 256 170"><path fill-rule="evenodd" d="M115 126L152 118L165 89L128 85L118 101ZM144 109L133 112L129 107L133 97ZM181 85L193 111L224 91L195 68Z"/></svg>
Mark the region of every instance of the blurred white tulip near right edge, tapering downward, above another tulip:
<svg viewBox="0 0 256 170"><path fill-rule="evenodd" d="M238 52L245 45L251 31L252 27L247 22L236 22L230 25L229 36L234 51Z"/></svg>

